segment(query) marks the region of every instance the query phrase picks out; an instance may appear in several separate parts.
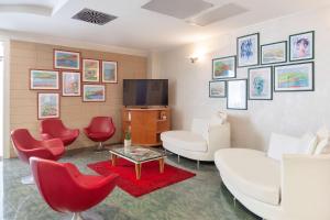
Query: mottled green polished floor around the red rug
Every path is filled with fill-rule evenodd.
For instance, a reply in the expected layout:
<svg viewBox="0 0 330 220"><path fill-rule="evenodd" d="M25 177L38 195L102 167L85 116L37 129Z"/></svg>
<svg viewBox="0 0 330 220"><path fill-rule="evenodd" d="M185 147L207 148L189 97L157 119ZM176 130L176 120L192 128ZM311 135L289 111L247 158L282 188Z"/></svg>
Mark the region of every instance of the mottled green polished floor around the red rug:
<svg viewBox="0 0 330 220"><path fill-rule="evenodd" d="M68 153L61 162L70 162L82 173L94 174L86 165L109 157L108 152L90 150ZM101 204L91 209L105 220L253 220L258 219L239 202L234 207L230 193L221 184L216 166L169 155L166 163L195 172L194 178L134 198L116 188ZM72 218L70 213L53 211L42 199L34 185L22 185L20 178L29 175L29 167L19 160L3 162L4 220L55 220Z"/></svg>

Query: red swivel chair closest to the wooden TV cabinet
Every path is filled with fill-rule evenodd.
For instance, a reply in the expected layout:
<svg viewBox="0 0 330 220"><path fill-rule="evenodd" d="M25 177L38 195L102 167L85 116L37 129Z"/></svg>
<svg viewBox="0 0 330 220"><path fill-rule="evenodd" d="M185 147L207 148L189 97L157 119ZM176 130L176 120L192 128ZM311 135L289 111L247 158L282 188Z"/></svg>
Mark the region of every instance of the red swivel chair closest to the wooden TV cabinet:
<svg viewBox="0 0 330 220"><path fill-rule="evenodd" d="M95 117L84 131L90 140L99 142L96 151L103 151L102 142L113 136L116 128L111 117Z"/></svg>

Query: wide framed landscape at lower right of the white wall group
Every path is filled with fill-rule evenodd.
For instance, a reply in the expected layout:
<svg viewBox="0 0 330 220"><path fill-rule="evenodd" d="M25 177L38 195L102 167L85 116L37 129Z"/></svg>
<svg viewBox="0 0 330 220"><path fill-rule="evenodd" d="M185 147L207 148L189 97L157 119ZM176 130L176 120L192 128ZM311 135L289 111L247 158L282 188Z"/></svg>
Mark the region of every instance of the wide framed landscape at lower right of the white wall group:
<svg viewBox="0 0 330 220"><path fill-rule="evenodd" d="M312 91L314 62L275 66L274 91Z"/></svg>

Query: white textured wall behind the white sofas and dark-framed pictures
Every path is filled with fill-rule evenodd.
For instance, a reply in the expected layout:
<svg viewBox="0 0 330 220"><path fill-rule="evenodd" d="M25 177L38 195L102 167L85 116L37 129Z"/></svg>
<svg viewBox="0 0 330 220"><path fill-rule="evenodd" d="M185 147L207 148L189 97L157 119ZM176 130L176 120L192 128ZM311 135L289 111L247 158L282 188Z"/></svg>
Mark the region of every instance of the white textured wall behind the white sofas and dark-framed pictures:
<svg viewBox="0 0 330 220"><path fill-rule="evenodd" d="M288 35L316 31L315 86L312 92L275 92L273 101L249 101L249 110L227 110L226 99L208 97L211 59L235 55L237 37L260 32L261 44L288 40ZM202 29L201 29L202 31ZM330 127L330 8L318 9L237 30L206 42L187 45L160 56L161 78L168 78L173 128L188 129L194 117L207 118L227 111L232 124L232 145L267 148L271 132L301 135ZM188 57L205 50L206 57L191 64ZM248 68L238 68L246 78Z"/></svg>

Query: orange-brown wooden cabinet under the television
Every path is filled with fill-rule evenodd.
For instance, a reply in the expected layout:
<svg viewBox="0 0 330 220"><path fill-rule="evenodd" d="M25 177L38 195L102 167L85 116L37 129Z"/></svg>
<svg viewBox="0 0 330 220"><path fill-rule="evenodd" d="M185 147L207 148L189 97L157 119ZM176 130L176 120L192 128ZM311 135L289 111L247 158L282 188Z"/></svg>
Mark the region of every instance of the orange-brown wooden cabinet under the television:
<svg viewBox="0 0 330 220"><path fill-rule="evenodd" d="M161 133L170 129L169 108L123 108L122 140L130 129L132 144L141 146L162 145Z"/></svg>

